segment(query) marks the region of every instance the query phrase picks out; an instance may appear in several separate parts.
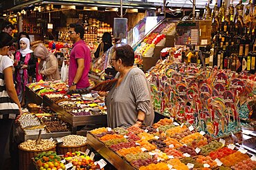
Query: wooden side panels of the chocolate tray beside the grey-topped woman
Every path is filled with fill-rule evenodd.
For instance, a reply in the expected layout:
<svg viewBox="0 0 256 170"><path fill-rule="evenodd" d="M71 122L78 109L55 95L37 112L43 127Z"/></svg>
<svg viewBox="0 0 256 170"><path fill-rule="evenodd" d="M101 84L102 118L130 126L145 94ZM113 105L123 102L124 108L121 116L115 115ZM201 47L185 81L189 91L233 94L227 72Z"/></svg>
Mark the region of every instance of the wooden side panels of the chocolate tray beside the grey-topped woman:
<svg viewBox="0 0 256 170"><path fill-rule="evenodd" d="M55 104L50 98L43 96L43 103L45 106L51 107L53 111L62 116L62 120L73 127L84 125L107 125L107 114L91 115L91 116L74 116L68 113L65 109Z"/></svg>

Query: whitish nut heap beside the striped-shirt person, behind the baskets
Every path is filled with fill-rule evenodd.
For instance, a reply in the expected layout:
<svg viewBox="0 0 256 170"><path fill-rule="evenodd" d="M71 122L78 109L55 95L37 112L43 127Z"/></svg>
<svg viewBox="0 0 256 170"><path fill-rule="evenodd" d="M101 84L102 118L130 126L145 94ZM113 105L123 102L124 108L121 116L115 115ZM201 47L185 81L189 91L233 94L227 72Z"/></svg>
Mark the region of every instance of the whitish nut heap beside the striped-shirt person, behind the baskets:
<svg viewBox="0 0 256 170"><path fill-rule="evenodd" d="M19 123L22 128L40 125L39 119L33 114L22 114L19 118Z"/></svg>

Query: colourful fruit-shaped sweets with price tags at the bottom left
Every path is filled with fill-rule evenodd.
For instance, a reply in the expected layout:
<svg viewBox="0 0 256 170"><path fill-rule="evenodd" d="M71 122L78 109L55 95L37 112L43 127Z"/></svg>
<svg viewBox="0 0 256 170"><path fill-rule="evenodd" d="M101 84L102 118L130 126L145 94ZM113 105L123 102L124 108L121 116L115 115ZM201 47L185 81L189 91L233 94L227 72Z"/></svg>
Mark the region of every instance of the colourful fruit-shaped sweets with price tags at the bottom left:
<svg viewBox="0 0 256 170"><path fill-rule="evenodd" d="M89 153L87 153L89 154ZM86 155L82 151L66 152L64 155L57 155L55 151L39 153L33 158L35 167L39 170L55 170L55 169L104 169L107 164L103 159L99 161L93 160L93 157Z"/></svg>

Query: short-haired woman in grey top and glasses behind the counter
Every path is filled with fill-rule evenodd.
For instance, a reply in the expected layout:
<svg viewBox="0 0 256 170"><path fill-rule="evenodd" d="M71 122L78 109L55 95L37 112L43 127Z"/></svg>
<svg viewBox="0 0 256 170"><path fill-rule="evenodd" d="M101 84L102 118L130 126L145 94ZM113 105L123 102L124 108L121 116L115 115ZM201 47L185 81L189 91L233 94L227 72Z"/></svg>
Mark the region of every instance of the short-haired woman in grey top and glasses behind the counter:
<svg viewBox="0 0 256 170"><path fill-rule="evenodd" d="M142 70L134 66L134 50L129 45L114 47L111 65L115 67L118 81L107 92L107 122L111 128L152 125L154 110L149 83Z"/></svg>

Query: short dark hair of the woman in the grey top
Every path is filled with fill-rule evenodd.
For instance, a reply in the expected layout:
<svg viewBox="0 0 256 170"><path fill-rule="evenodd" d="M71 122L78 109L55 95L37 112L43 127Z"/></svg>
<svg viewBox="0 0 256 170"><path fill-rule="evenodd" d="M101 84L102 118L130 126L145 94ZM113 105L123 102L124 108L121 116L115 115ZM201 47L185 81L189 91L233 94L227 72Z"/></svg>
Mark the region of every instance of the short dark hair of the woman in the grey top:
<svg viewBox="0 0 256 170"><path fill-rule="evenodd" d="M113 47L113 50L116 51L116 59L121 59L124 66L134 65L134 50L130 45Z"/></svg>

